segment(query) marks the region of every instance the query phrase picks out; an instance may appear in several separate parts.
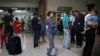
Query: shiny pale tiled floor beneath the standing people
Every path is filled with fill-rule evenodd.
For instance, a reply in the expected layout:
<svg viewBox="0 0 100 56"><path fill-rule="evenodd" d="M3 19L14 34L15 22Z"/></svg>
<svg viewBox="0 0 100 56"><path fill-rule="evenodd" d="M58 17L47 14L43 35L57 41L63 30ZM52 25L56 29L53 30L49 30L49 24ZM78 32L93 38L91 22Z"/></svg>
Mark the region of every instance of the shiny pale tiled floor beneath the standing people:
<svg viewBox="0 0 100 56"><path fill-rule="evenodd" d="M100 39L100 38L99 38ZM46 56L47 43L41 43L38 48L33 48L32 34L24 34L22 38L23 53L17 56ZM81 56L82 48L76 48L74 44L71 45L71 50L62 48L62 36L55 36L55 46L57 48L57 56ZM11 56L6 49L0 50L0 56Z"/></svg>

